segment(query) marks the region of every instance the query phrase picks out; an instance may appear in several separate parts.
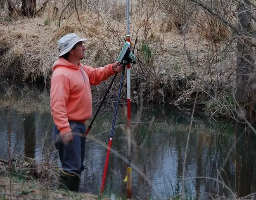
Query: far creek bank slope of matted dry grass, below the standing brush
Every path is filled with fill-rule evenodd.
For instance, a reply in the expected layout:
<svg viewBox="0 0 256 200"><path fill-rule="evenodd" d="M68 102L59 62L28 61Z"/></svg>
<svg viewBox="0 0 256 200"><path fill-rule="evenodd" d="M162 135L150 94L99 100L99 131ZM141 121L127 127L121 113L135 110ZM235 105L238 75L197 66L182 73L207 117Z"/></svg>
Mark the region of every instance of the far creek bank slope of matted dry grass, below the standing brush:
<svg viewBox="0 0 256 200"><path fill-rule="evenodd" d="M94 67L113 62L123 46L125 24L107 19L96 20L92 13L58 18L15 19L1 21L0 74L5 80L41 84L49 87L52 64L57 59L58 39L67 33L88 38L82 63ZM83 26L81 26L81 24ZM157 23L143 30L132 27L132 44L137 38L137 64L131 66L131 101L174 104L196 108L215 117L229 117L232 111L235 56L223 44L201 38L197 29L182 34L173 28L163 31ZM168 24L165 24L168 26ZM194 30L194 31L193 31ZM218 59L216 59L218 57ZM108 96L115 101L119 87L116 79ZM100 100L110 80L92 87L93 99ZM126 102L126 77L121 102Z"/></svg>

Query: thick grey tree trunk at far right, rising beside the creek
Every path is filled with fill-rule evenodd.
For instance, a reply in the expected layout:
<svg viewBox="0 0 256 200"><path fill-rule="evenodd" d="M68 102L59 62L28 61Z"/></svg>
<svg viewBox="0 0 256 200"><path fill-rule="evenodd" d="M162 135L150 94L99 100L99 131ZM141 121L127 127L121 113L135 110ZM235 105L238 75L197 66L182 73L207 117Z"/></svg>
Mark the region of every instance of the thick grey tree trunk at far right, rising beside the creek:
<svg viewBox="0 0 256 200"><path fill-rule="evenodd" d="M244 5L247 4L247 5ZM238 28L245 35L249 35L251 31L251 4L249 0L244 0L244 3L240 3L238 11ZM250 94L250 84L249 78L252 69L252 49L247 44L246 38L239 38L237 43L237 90L235 93L235 98L237 101L247 101Z"/></svg>

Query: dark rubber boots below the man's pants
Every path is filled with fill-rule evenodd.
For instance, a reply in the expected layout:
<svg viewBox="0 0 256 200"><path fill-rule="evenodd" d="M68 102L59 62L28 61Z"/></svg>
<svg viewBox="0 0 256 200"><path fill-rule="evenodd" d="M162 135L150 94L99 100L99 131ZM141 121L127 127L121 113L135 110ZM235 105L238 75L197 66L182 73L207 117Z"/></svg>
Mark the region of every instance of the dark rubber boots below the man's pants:
<svg viewBox="0 0 256 200"><path fill-rule="evenodd" d="M69 190L69 191L77 191L76 186L76 178L77 176L73 174L67 174L63 171L60 172L59 175L59 184L58 189L60 190Z"/></svg>

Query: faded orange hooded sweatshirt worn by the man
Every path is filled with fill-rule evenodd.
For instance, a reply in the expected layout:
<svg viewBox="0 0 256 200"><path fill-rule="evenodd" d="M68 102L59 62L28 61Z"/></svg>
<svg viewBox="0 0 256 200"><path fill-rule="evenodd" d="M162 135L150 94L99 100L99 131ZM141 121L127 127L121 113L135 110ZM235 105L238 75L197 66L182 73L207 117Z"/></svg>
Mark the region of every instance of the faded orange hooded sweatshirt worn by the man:
<svg viewBox="0 0 256 200"><path fill-rule="evenodd" d="M59 58L53 64L50 106L55 125L60 134L71 131L69 120L85 123L92 116L90 85L99 85L114 75L113 64L93 68L69 63Z"/></svg>

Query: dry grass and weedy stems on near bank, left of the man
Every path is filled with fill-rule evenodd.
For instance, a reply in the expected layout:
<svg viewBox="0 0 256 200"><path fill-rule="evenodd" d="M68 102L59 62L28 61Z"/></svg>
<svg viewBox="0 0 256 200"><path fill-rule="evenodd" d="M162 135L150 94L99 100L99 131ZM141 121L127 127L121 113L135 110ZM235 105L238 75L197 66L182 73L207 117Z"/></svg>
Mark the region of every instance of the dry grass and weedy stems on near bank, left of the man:
<svg viewBox="0 0 256 200"><path fill-rule="evenodd" d="M16 153L10 156L11 160L0 160L0 199L98 200L97 194L57 189L59 166L54 153L52 147L47 148L40 162L27 157L26 153L22 156ZM107 195L100 199L109 200Z"/></svg>

